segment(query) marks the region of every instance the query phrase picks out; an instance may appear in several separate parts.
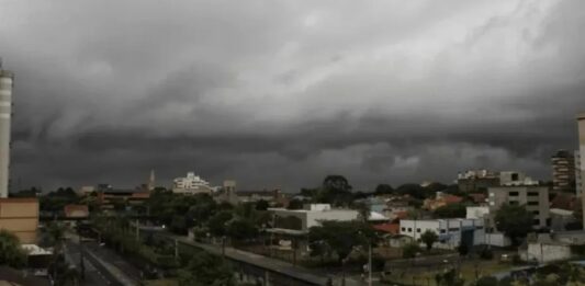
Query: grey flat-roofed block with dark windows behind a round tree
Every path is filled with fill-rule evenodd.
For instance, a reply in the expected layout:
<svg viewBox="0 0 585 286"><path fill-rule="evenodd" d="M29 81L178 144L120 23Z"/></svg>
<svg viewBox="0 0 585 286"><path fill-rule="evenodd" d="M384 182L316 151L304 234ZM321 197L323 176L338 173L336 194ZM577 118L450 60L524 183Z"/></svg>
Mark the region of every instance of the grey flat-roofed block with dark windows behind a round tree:
<svg viewBox="0 0 585 286"><path fill-rule="evenodd" d="M526 206L535 215L532 226L547 228L550 226L549 188L547 186L497 186L488 188L490 213L496 211L504 205Z"/></svg>

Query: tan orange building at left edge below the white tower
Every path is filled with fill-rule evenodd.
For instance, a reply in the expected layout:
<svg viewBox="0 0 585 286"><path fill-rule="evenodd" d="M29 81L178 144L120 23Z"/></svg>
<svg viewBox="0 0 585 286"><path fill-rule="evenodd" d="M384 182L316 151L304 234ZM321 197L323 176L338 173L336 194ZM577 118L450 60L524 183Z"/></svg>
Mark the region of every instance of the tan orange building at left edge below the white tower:
<svg viewBox="0 0 585 286"><path fill-rule="evenodd" d="M14 233L22 244L36 243L38 199L0 198L0 229Z"/></svg>

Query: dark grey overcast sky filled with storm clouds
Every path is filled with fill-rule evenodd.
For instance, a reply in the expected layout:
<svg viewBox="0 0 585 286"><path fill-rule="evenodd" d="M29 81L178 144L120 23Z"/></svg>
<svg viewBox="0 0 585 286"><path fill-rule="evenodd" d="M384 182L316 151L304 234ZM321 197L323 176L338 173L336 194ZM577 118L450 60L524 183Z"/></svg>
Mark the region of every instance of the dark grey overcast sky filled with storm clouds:
<svg viewBox="0 0 585 286"><path fill-rule="evenodd" d="M577 146L584 27L583 0L0 0L13 188L547 180Z"/></svg>

